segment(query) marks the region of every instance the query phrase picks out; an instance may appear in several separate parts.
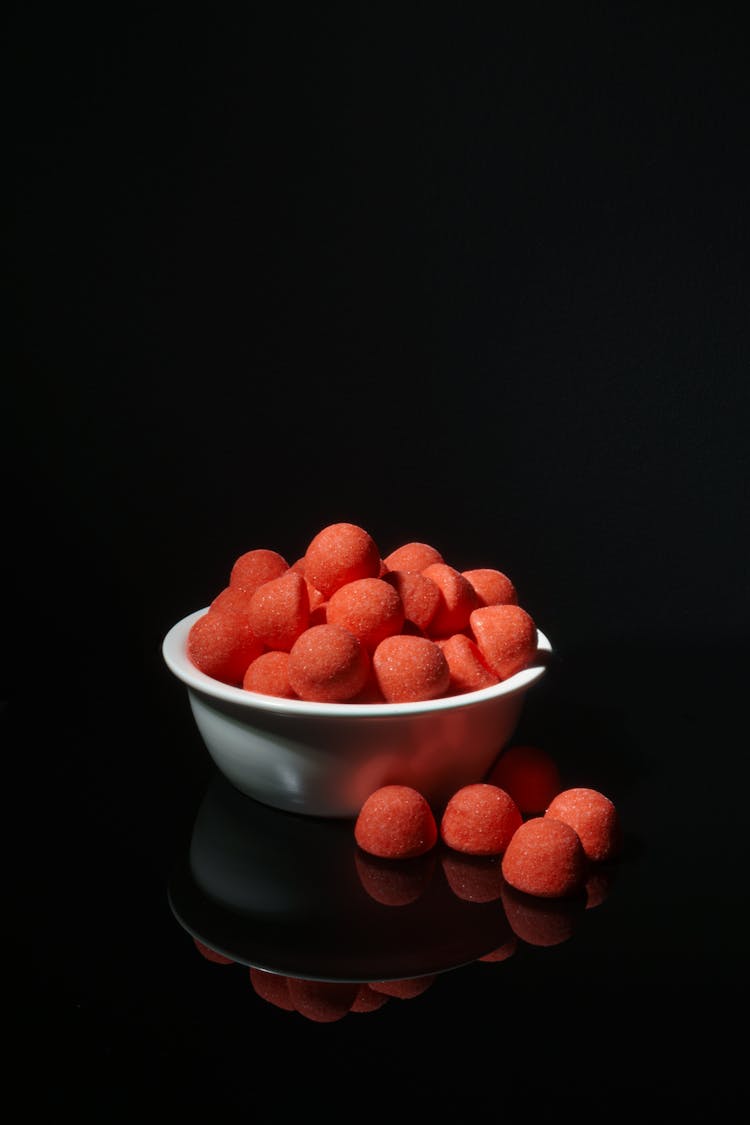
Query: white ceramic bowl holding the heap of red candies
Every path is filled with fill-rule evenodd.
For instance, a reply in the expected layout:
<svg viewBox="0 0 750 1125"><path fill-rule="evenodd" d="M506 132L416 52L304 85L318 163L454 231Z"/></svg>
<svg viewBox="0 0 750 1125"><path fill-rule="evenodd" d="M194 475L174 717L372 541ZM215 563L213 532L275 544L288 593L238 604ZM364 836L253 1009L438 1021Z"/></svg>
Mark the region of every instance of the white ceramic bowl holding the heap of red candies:
<svg viewBox="0 0 750 1125"><path fill-rule="evenodd" d="M513 736L528 688L552 647L537 631L539 660L493 687L418 703L308 703L211 680L187 654L193 621L178 621L162 652L188 699L206 748L242 793L314 817L356 817L381 785L412 785L435 809L481 781Z"/></svg>

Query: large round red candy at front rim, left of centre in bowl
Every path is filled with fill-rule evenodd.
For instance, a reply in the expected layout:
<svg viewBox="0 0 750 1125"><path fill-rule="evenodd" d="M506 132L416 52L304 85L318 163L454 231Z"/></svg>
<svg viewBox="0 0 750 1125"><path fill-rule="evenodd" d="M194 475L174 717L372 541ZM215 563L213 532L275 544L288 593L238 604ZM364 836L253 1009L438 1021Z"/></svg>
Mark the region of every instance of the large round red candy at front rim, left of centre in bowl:
<svg viewBox="0 0 750 1125"><path fill-rule="evenodd" d="M289 652L289 683L301 700L344 703L358 694L370 673L368 650L349 629L313 626Z"/></svg>

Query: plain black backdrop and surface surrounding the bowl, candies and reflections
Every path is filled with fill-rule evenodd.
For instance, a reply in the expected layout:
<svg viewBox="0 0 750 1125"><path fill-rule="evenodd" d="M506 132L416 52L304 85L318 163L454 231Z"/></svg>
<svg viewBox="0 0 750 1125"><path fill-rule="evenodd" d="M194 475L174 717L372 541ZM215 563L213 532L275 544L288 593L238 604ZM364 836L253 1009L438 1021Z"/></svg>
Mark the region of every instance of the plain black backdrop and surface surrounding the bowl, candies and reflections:
<svg viewBox="0 0 750 1125"><path fill-rule="evenodd" d="M729 6L467 8L10 20L3 727L45 1108L742 1100L746 40ZM161 641L340 520L513 577L555 650L519 737L627 847L564 945L317 1026L169 910L210 770Z"/></svg>

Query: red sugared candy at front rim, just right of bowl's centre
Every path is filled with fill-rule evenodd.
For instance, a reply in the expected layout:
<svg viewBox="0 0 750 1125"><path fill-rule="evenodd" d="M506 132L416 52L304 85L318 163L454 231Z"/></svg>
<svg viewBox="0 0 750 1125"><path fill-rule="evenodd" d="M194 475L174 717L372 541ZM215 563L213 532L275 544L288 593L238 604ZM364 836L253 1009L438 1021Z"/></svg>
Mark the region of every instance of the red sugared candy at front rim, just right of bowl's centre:
<svg viewBox="0 0 750 1125"><path fill-rule="evenodd" d="M388 703L439 699L451 683L448 660L428 637L387 637L372 654L372 670Z"/></svg>

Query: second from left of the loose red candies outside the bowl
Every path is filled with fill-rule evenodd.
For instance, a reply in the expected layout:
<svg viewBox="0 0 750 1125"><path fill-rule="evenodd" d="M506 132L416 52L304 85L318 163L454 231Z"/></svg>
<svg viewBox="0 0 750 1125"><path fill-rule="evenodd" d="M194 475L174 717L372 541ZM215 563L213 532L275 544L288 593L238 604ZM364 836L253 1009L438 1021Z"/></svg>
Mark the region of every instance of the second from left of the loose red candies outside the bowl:
<svg viewBox="0 0 750 1125"><path fill-rule="evenodd" d="M497 785L463 785L448 801L440 835L448 847L467 855L500 855L522 824L513 798Z"/></svg>

